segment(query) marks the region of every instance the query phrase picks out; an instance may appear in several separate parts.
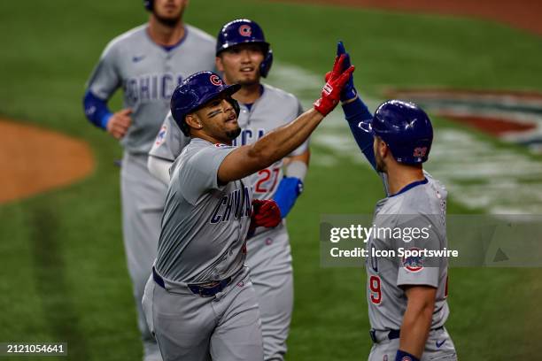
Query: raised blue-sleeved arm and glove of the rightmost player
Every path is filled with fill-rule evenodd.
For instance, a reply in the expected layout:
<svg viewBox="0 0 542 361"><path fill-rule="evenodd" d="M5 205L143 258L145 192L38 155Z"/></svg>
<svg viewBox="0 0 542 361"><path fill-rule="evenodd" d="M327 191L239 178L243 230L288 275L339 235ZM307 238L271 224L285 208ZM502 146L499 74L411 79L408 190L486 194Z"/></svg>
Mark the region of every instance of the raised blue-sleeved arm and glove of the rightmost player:
<svg viewBox="0 0 542 361"><path fill-rule="evenodd" d="M343 66L350 65L350 54L346 52L343 42L337 43L337 56L340 55L345 55L345 64ZM358 147L360 147L365 157L367 157L368 162L376 169L373 135L360 127L360 124L368 123L373 119L373 114L368 110L367 105L363 103L358 91L354 87L353 76L345 84L345 88L341 93L341 102L343 104L343 111L345 112L345 119L352 131L354 140L358 143Z"/></svg>

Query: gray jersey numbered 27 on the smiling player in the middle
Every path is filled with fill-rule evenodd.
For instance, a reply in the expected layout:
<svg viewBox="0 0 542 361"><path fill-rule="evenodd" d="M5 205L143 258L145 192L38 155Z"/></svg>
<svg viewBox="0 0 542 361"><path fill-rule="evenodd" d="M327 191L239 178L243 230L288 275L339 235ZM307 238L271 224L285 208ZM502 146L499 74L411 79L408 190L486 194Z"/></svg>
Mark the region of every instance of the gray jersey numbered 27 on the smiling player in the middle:
<svg viewBox="0 0 542 361"><path fill-rule="evenodd" d="M259 99L248 107L239 104L241 112L238 122L241 134L236 138L233 145L245 145L256 142L264 134L271 130L290 123L298 118L303 112L298 98L279 88L262 85L262 94ZM190 138L182 134L181 129L175 123L171 112L166 116L160 132L152 145L149 154L174 161L181 154L182 148L190 142ZM308 149L308 141L294 150L290 155L295 156L304 153ZM283 178L283 161L280 160L266 169L254 173L250 184L254 191L254 198L269 199L275 195L278 183Z"/></svg>

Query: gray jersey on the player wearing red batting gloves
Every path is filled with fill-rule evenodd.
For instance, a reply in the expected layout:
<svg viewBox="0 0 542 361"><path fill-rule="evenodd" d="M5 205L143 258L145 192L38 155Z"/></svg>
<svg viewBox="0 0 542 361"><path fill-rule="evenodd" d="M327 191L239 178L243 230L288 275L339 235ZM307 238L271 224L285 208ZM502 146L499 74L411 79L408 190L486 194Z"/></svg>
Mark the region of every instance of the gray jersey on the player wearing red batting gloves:
<svg viewBox="0 0 542 361"><path fill-rule="evenodd" d="M250 183L218 183L219 167L235 148L194 138L175 161L155 263L166 280L223 280L243 267Z"/></svg>

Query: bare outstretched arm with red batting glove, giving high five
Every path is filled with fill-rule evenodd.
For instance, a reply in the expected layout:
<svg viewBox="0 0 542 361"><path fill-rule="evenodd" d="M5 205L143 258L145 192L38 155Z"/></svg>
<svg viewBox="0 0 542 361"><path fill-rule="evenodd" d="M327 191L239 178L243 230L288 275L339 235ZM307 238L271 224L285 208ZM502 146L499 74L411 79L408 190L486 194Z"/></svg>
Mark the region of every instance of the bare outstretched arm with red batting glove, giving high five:
<svg viewBox="0 0 542 361"><path fill-rule="evenodd" d="M345 57L337 57L329 79L322 88L321 98L314 108L301 114L289 124L264 135L258 142L237 148L221 163L218 179L221 183L239 180L272 165L305 142L321 120L338 104L346 81L352 76L353 66L343 70Z"/></svg>

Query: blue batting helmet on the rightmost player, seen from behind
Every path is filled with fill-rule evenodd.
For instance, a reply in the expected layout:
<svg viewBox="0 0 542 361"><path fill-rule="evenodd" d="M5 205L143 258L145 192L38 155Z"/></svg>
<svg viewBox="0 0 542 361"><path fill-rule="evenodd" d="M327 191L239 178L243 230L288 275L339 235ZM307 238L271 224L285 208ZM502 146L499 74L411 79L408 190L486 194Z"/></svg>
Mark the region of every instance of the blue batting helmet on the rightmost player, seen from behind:
<svg viewBox="0 0 542 361"><path fill-rule="evenodd" d="M429 157L433 127L425 111L414 103L384 102L370 123L362 123L360 127L381 138L399 163L416 165Z"/></svg>

